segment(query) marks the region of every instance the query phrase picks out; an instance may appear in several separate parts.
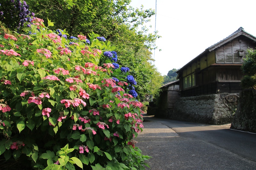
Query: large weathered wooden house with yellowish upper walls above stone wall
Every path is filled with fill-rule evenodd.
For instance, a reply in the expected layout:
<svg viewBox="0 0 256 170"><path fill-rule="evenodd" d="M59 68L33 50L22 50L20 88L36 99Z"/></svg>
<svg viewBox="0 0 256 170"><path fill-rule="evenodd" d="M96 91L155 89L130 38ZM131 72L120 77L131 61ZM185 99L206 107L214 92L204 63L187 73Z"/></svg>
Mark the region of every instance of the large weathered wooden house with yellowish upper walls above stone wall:
<svg viewBox="0 0 256 170"><path fill-rule="evenodd" d="M240 27L177 71L181 97L241 91L240 67L248 48L256 47L256 37Z"/></svg>

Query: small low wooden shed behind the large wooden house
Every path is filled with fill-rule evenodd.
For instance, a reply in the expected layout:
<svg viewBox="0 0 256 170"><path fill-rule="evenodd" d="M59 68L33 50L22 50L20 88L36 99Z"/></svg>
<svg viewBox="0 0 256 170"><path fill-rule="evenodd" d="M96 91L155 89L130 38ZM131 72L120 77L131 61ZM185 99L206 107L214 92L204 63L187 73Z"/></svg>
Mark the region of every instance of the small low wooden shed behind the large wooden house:
<svg viewBox="0 0 256 170"><path fill-rule="evenodd" d="M159 107L162 109L173 110L176 101L180 98L179 80L169 82L161 87L162 92L159 97Z"/></svg>

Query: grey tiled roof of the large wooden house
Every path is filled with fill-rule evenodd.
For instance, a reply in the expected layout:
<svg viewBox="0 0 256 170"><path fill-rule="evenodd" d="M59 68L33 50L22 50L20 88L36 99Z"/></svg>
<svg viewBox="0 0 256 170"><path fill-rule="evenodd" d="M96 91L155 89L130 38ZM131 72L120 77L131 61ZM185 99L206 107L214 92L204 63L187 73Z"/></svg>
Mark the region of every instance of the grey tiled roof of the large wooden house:
<svg viewBox="0 0 256 170"><path fill-rule="evenodd" d="M192 61L194 61L196 58L200 57L201 55L203 55L204 53L206 52L210 52L212 50L214 50L215 48L218 48L220 47L221 45L223 45L223 43L226 43L226 41L230 41L229 39L233 39L233 38L236 38L237 36L241 35L241 34L247 34L248 37L254 39L254 41L256 41L256 37L253 36L252 34L249 34L247 32L244 31L244 28L243 27L240 27L238 30L236 30L234 33L230 34L228 37L224 38L223 40L213 44L212 46L206 48L204 50L204 52L202 52L201 54L197 55L194 59L192 59L190 62L188 62L186 65L184 65L181 69L177 70L176 72L180 72L180 70L183 70L188 64L190 64Z"/></svg>

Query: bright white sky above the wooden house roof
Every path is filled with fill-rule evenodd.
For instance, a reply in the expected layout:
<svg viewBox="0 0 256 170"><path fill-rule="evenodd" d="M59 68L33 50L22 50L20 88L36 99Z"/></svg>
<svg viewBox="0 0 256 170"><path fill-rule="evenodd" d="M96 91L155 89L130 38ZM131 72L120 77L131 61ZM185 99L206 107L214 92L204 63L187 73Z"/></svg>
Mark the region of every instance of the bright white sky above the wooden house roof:
<svg viewBox="0 0 256 170"><path fill-rule="evenodd" d="M156 9L156 30L162 38L156 40L155 65L162 75L183 67L239 27L256 36L255 0L132 0L130 5ZM155 15L149 25L154 32Z"/></svg>

